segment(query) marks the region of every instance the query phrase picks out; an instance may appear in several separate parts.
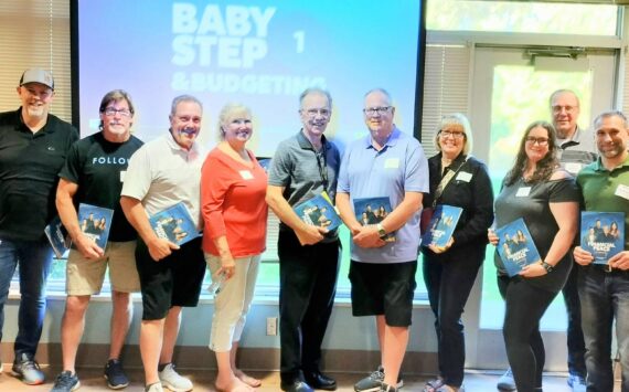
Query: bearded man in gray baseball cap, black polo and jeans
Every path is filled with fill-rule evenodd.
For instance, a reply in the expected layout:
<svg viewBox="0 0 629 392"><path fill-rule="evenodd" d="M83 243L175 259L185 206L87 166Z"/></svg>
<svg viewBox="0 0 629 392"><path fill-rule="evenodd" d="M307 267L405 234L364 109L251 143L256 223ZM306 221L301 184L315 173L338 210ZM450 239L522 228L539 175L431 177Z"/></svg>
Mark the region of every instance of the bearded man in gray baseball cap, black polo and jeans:
<svg viewBox="0 0 629 392"><path fill-rule="evenodd" d="M78 139L76 128L49 113L53 87L50 72L26 70L17 87L22 106L0 113L0 339L4 303L19 266L21 300L12 371L26 384L44 382L35 361L53 254L44 227L56 215L58 171Z"/></svg>

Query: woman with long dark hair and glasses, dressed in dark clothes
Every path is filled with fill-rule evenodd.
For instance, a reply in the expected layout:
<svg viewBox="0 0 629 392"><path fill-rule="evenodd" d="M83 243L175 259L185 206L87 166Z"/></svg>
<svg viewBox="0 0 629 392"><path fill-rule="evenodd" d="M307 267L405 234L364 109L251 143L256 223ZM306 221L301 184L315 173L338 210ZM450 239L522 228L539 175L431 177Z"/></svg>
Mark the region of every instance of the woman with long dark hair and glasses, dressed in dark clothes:
<svg viewBox="0 0 629 392"><path fill-rule="evenodd" d="M542 390L545 352L540 319L564 286L573 265L579 193L574 178L559 168L556 134L545 121L531 124L515 163L495 199L495 226L524 220L541 259L509 277L498 253L498 287L505 301L502 333L519 392ZM489 241L498 244L495 233Z"/></svg>

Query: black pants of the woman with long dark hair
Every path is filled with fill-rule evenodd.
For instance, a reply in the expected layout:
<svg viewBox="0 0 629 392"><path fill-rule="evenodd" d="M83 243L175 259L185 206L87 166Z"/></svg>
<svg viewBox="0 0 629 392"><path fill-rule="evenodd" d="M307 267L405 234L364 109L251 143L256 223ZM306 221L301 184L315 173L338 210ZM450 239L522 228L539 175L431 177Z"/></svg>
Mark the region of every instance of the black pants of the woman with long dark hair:
<svg viewBox="0 0 629 392"><path fill-rule="evenodd" d="M540 319L557 293L508 276L498 276L498 288L505 301L502 335L518 392L533 392L542 386L546 361Z"/></svg>

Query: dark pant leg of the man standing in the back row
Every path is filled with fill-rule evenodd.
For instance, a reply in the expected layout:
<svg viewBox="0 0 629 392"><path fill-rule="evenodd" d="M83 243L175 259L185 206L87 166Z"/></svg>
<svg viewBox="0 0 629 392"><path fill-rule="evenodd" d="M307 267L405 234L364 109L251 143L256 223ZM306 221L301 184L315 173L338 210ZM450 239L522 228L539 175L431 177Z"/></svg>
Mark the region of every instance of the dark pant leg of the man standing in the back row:
<svg viewBox="0 0 629 392"><path fill-rule="evenodd" d="M578 273L580 268L572 268L566 285L562 289L568 316L568 371L585 378L585 340L580 326L580 301L578 299Z"/></svg>

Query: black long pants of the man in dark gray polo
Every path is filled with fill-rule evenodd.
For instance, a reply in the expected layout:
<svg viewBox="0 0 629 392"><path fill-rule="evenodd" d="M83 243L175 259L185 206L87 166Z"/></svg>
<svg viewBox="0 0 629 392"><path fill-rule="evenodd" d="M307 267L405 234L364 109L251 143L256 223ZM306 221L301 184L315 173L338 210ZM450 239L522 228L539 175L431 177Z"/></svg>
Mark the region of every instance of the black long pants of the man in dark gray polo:
<svg viewBox="0 0 629 392"><path fill-rule="evenodd" d="M292 231L280 231L279 335L280 375L284 382L318 371L321 342L332 314L337 276L338 241L301 246Z"/></svg>

